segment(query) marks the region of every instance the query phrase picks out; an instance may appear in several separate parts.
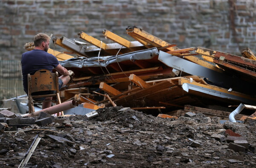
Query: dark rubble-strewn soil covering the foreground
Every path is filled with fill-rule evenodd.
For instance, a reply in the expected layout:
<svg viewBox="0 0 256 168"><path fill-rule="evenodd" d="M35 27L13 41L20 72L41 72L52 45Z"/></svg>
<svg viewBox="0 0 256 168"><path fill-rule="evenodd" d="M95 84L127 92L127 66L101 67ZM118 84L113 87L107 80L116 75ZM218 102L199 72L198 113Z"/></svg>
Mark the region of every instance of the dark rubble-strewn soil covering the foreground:
<svg viewBox="0 0 256 168"><path fill-rule="evenodd" d="M255 123L218 123L218 118L197 114L191 118L159 118L122 107L98 109L87 118L73 115L63 123L32 125L19 132L0 133L0 165L18 167L36 135L41 137L28 168L93 167L255 167L256 155L229 149L213 133L226 129L247 137L253 146ZM63 118L65 119L65 118ZM69 120L68 120L69 119ZM196 142L196 146L192 145Z"/></svg>

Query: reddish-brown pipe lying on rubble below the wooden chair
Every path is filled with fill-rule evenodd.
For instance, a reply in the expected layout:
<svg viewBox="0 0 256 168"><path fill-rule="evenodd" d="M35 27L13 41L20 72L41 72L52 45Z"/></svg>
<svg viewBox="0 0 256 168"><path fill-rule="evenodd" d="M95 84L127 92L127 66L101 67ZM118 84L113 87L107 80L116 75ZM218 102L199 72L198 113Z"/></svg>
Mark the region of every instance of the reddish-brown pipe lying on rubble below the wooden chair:
<svg viewBox="0 0 256 168"><path fill-rule="evenodd" d="M52 114L55 114L57 112L72 109L75 106L76 106L76 101L71 100L71 101L61 103L61 104L57 104L55 106L48 107L46 109L39 110L39 111L34 112L34 113L24 114L24 115L21 115L21 116L22 117L34 117L34 116L38 116L40 112L45 112L49 115L52 115Z"/></svg>

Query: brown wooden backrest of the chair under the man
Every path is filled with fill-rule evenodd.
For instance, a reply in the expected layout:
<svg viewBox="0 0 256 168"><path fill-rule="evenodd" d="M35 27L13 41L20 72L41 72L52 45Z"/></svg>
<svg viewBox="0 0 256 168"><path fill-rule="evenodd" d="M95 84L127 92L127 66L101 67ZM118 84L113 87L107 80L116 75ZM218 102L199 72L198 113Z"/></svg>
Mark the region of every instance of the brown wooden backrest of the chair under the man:
<svg viewBox="0 0 256 168"><path fill-rule="evenodd" d="M34 75L28 74L28 90L30 93L56 90L58 92L58 72L51 73L49 70L38 70Z"/></svg>

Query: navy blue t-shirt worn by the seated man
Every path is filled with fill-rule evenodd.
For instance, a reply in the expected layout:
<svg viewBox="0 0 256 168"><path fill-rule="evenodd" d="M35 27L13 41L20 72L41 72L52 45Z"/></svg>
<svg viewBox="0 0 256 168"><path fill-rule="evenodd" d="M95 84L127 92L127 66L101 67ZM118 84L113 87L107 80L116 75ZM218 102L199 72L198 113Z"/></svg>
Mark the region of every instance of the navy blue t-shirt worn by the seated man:
<svg viewBox="0 0 256 168"><path fill-rule="evenodd" d="M22 54L21 69L23 76L23 87L28 94L28 74L34 75L37 70L47 69L52 72L52 69L59 64L58 59L44 50L31 50Z"/></svg>

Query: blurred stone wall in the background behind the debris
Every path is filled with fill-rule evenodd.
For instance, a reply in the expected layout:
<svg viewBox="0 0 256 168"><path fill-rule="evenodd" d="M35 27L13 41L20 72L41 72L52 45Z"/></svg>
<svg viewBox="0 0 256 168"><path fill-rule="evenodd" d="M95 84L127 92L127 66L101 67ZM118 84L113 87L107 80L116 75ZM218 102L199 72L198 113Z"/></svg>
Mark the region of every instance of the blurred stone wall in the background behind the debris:
<svg viewBox="0 0 256 168"><path fill-rule="evenodd" d="M82 41L77 33L84 31L110 43L107 29L133 41L128 25L178 48L256 51L255 7L255 0L1 0L0 59L20 59L39 32Z"/></svg>

